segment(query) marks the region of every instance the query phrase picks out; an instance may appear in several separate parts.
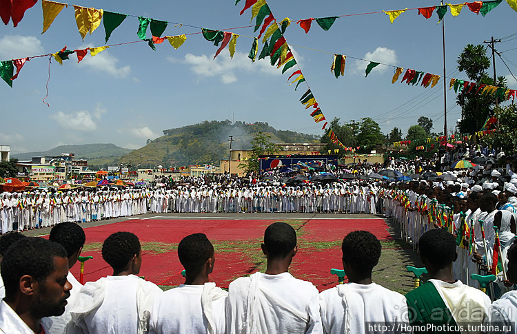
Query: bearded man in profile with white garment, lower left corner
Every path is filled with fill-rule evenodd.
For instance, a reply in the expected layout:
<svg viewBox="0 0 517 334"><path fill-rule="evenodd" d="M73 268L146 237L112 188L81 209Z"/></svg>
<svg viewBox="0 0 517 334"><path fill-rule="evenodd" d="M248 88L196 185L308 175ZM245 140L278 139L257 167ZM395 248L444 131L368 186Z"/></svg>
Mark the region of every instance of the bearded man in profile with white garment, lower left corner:
<svg viewBox="0 0 517 334"><path fill-rule="evenodd" d="M45 317L63 314L70 296L67 274L60 244L43 238L14 242L2 260L6 297L0 301L0 333L48 334Z"/></svg>

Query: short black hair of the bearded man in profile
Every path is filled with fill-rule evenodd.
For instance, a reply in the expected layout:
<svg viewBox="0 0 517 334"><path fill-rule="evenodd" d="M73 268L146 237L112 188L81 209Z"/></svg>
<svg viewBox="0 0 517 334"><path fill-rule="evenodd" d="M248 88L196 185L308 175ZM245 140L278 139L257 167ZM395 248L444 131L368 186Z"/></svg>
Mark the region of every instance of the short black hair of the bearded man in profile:
<svg viewBox="0 0 517 334"><path fill-rule="evenodd" d="M45 282L55 269L54 258L67 258L61 244L43 238L21 238L14 242L4 254L1 266L6 299L15 297L23 275L30 275L40 283Z"/></svg>

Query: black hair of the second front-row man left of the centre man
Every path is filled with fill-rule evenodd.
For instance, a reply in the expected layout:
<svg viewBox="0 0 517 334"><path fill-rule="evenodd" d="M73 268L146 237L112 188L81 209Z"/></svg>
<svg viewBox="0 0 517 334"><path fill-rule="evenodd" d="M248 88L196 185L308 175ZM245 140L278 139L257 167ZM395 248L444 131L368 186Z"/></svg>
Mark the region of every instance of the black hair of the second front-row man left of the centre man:
<svg viewBox="0 0 517 334"><path fill-rule="evenodd" d="M140 253L140 241L131 232L116 232L104 240L102 258L114 270L123 269L134 255Z"/></svg>

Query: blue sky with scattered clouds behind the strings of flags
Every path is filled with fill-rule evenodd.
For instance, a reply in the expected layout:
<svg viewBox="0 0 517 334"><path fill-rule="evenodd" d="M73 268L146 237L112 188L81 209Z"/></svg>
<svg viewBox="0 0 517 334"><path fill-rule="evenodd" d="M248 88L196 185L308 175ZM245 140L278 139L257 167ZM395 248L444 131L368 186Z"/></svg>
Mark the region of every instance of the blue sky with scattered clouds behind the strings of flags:
<svg viewBox="0 0 517 334"><path fill-rule="evenodd" d="M196 27L225 30L250 25L251 10L239 12L245 0L234 6L225 1L86 1L69 3L45 34L41 34L41 1L28 10L17 28L0 26L0 60L48 54L68 49L102 46L103 25L84 41L77 30L72 4L102 8L134 16L183 23L169 24L164 35L199 32ZM456 3L456 2L453 2ZM310 17L399 10L439 5L438 1L309 1L268 2L278 21ZM467 7L458 17L445 16L447 75L467 79L456 70L456 59L467 43L482 43L517 32L517 12L503 1L486 17ZM367 78L364 61L347 59L345 76L335 79L330 72L333 54L380 61L414 70L443 74L442 28L436 24L436 12L426 20L416 10L408 10L393 24L385 14L367 14L337 19L329 31L314 22L308 34L292 23L285 37L292 45L298 64L328 121L342 122L371 117L383 132L400 127L403 132L416 124L420 116L434 121L434 131L443 131L443 81L433 89L392 84L393 67L378 66ZM108 44L138 41L136 17L128 17L114 30ZM256 36L252 28L230 30ZM150 32L148 32L150 36ZM12 152L50 149L56 145L114 143L128 148L145 145L148 138L161 136L163 129L181 127L205 120L234 118L235 121L270 123L276 129L323 134L323 123L314 123L310 112L298 102L307 89L302 83L294 92L290 74L281 74L267 61L251 63L247 54L252 39L239 37L234 59L227 49L215 59L217 48L201 34L187 35L187 41L175 50L168 42L157 50L143 43L114 46L95 57L88 54L77 64L75 55L60 66L50 65L47 102L48 59L26 63L11 89L0 83L2 122L0 144L11 145ZM504 39L496 49L517 74L516 36ZM261 43L259 43L261 50ZM312 49L312 50L311 50ZM508 51L507 51L508 50ZM517 82L496 59L498 75L509 78L509 87ZM492 73L492 70L489 70ZM447 89L447 124L452 129L460 118L454 91ZM230 135L230 134L228 134Z"/></svg>

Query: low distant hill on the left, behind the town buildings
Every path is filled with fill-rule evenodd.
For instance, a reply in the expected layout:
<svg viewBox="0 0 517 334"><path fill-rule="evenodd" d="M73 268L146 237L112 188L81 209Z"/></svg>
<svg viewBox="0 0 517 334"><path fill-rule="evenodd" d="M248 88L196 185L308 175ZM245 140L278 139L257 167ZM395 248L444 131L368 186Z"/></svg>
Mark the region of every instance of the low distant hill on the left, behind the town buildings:
<svg viewBox="0 0 517 334"><path fill-rule="evenodd" d="M86 159L88 165L92 165L90 161L94 159L109 158L110 161L118 161L121 156L131 151L132 149L125 149L114 144L61 145L43 152L12 154L11 158L31 160L33 156L60 156L62 153L74 153L76 159Z"/></svg>

